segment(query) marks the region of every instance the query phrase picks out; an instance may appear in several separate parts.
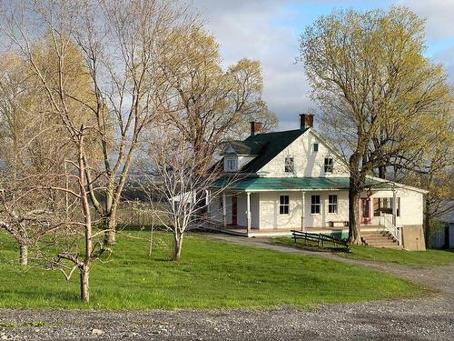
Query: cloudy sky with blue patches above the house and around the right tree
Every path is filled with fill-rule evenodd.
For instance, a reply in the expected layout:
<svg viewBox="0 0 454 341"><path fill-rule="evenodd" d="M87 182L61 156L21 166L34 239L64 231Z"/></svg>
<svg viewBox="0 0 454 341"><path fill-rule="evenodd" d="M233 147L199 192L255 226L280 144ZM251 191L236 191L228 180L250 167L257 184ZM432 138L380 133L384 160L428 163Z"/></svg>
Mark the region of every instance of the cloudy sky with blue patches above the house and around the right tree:
<svg viewBox="0 0 454 341"><path fill-rule="evenodd" d="M303 65L296 64L306 25L333 9L405 5L427 19L427 53L442 63L454 84L454 0L192 0L205 28L221 45L224 67L241 58L262 63L263 95L279 118L279 129L298 127L298 114L316 108L309 99Z"/></svg>

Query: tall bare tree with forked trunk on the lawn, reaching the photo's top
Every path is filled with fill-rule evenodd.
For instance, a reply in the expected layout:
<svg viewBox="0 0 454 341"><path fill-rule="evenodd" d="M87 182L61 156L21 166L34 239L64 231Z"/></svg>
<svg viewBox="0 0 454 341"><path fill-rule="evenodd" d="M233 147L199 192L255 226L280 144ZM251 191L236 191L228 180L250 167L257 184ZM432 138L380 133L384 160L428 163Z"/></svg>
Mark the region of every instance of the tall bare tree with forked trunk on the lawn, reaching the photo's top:
<svg viewBox="0 0 454 341"><path fill-rule="evenodd" d="M96 101L94 114L102 145L104 190L95 191L87 171L90 198L104 218L104 242L114 244L116 213L144 129L163 111L166 86L161 58L175 29L198 25L179 1L103 1L84 8L74 39L84 53ZM102 204L99 197L104 198Z"/></svg>

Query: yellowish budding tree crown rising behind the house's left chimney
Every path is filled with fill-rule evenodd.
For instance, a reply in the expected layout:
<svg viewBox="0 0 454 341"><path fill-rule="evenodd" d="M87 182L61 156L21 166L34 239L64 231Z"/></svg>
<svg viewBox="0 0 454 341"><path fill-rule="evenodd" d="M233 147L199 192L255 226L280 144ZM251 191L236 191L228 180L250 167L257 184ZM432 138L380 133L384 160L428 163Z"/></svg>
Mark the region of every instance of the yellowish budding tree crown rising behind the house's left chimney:
<svg viewBox="0 0 454 341"><path fill-rule="evenodd" d="M277 125L262 100L260 62L242 59L222 70L219 45L200 28L175 31L169 39L164 44L176 48L161 64L172 108L164 122L197 153L212 157L226 136L248 133L252 120L262 120L268 129Z"/></svg>

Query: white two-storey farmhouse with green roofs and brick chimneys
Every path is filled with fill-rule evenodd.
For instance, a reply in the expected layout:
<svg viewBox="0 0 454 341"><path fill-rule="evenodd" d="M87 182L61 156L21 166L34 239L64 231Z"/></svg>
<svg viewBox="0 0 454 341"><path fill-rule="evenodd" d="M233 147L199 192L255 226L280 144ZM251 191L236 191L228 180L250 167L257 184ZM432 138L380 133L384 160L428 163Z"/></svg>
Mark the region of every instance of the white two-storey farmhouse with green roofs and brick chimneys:
<svg viewBox="0 0 454 341"><path fill-rule="evenodd" d="M230 142L218 186L234 180L221 194L212 189L211 220L244 236L285 235L291 229L348 236L348 165L312 123L312 115L300 115L300 129L261 134L261 124L252 122L248 138ZM369 239L364 241L424 249L425 193L368 177L360 197L361 232Z"/></svg>

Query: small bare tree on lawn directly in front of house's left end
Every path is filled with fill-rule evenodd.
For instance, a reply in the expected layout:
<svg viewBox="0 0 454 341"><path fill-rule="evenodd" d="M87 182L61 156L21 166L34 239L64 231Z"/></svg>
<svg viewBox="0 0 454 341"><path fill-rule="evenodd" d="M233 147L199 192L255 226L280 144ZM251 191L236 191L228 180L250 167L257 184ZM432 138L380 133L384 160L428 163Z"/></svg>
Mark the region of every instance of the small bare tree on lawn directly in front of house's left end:
<svg viewBox="0 0 454 341"><path fill-rule="evenodd" d="M229 186L235 176L222 186L216 186L222 176L222 165L214 164L211 155L194 150L172 126L155 131L149 160L154 176L146 187L153 195L153 215L158 224L173 233L173 260L179 260L185 232L204 223L203 219L208 218L205 206L210 205L212 198ZM201 192L207 196L197 196Z"/></svg>

